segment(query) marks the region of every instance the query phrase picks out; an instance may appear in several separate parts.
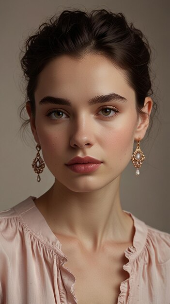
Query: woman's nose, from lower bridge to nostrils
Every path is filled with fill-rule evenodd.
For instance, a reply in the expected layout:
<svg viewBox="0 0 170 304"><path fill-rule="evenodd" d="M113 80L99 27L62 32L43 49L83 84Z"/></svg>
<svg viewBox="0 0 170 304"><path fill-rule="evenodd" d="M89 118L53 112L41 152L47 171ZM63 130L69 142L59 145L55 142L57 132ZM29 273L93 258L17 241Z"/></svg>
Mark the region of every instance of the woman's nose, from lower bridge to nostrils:
<svg viewBox="0 0 170 304"><path fill-rule="evenodd" d="M84 148L85 146L93 146L93 127L90 124L89 119L82 118L77 121L71 127L70 146Z"/></svg>

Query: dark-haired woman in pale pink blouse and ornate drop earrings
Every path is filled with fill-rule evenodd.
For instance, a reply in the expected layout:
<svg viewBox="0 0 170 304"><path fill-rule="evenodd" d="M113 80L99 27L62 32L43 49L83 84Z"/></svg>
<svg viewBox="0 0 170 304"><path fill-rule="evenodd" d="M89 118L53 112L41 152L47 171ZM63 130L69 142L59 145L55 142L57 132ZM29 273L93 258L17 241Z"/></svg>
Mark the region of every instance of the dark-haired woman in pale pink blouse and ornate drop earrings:
<svg viewBox="0 0 170 304"><path fill-rule="evenodd" d="M63 11L28 38L32 167L55 182L0 213L0 303L170 304L170 235L119 193L129 161L137 176L144 161L149 63L143 34L106 10Z"/></svg>

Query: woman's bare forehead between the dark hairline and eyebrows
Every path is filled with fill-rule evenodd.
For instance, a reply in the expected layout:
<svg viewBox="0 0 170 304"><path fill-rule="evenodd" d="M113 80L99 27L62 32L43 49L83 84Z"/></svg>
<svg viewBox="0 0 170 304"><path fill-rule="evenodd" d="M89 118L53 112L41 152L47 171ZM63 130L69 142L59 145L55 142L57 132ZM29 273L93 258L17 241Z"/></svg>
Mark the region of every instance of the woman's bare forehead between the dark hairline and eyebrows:
<svg viewBox="0 0 170 304"><path fill-rule="evenodd" d="M102 55L86 55L78 59L61 56L51 60L38 77L35 99L48 95L108 94L114 92L132 98L134 90L127 84L125 73ZM125 95L125 96L124 96Z"/></svg>

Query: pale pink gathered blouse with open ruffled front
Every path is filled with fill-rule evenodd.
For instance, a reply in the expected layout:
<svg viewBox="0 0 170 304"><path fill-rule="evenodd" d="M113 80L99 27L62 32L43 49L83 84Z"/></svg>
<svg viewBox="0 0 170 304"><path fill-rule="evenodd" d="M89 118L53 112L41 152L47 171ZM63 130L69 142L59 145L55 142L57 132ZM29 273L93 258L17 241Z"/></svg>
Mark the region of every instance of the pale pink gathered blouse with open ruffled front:
<svg viewBox="0 0 170 304"><path fill-rule="evenodd" d="M0 304L76 304L67 256L34 199L0 212ZM118 304L170 304L170 234L127 213L135 235Z"/></svg>

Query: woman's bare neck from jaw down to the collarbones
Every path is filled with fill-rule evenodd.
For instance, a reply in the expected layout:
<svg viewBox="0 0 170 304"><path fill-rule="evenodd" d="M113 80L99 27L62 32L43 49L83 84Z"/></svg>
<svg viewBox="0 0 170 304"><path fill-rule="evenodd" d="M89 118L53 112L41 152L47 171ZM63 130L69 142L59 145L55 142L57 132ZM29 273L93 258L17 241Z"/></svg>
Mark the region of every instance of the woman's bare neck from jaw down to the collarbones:
<svg viewBox="0 0 170 304"><path fill-rule="evenodd" d="M84 247L98 251L108 241L130 242L133 220L122 210L120 177L91 192L74 192L57 180L35 204L55 234L77 238Z"/></svg>

